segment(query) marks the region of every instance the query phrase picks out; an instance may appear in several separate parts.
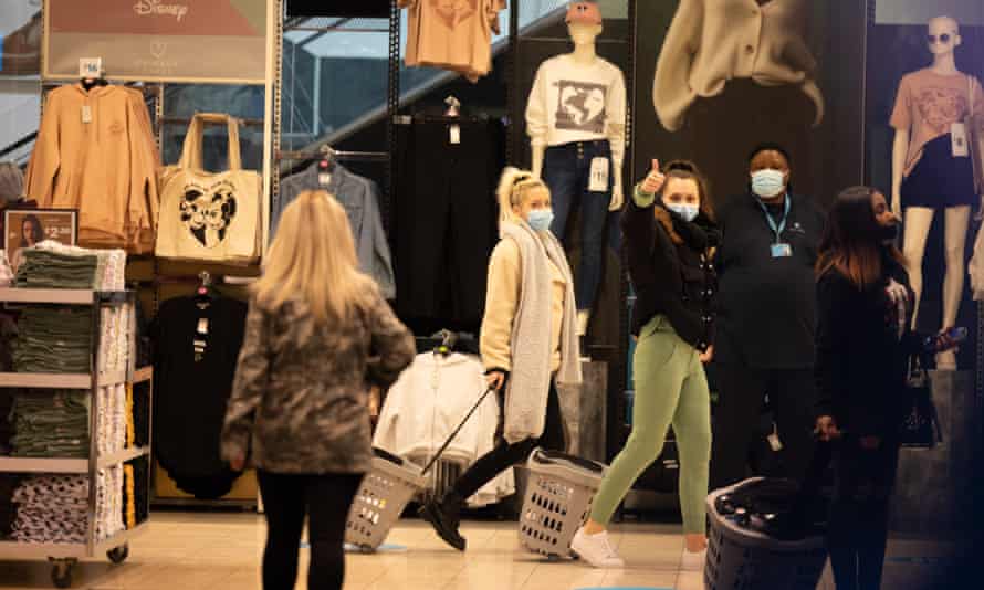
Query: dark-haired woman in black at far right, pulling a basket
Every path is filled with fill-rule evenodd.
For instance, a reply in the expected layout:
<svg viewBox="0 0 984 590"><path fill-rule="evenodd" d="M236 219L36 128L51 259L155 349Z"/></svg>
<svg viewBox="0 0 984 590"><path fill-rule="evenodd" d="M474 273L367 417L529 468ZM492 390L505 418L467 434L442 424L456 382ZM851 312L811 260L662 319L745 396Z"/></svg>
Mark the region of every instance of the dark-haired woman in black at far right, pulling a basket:
<svg viewBox="0 0 984 590"><path fill-rule="evenodd" d="M817 261L817 434L836 441L828 545L838 590L877 590L899 460L912 289L894 246L900 223L867 187L838 194ZM953 347L944 336L936 349Z"/></svg>

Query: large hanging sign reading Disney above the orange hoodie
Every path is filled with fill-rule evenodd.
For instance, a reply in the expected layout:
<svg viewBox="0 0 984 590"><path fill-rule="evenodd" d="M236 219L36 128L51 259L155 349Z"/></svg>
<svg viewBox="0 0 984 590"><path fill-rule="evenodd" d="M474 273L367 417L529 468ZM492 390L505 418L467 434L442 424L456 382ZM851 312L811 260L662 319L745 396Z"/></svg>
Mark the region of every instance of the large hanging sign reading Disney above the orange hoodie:
<svg viewBox="0 0 984 590"><path fill-rule="evenodd" d="M43 77L262 84L274 0L45 0Z"/></svg>

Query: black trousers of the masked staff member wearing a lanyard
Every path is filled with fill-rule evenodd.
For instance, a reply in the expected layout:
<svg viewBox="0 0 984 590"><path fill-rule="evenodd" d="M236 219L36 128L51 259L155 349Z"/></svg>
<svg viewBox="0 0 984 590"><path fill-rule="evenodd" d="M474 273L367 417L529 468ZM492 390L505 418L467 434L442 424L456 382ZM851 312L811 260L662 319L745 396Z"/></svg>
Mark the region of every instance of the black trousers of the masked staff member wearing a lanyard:
<svg viewBox="0 0 984 590"><path fill-rule="evenodd" d="M745 478L766 393L775 405L785 475L802 481L814 449L813 369L764 370L730 362L715 370L720 400L713 420L711 489Z"/></svg>

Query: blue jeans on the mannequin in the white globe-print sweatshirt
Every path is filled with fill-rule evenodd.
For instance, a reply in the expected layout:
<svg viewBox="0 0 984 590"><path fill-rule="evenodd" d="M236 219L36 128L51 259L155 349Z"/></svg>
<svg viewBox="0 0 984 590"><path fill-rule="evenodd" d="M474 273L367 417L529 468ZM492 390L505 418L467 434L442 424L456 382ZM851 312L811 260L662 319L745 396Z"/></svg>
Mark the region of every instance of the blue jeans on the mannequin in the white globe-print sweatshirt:
<svg viewBox="0 0 984 590"><path fill-rule="evenodd" d="M611 169L611 147L607 139L552 146L546 149L543 160L543 180L551 189L554 203L553 234L563 241L570 213L578 206L580 209L580 265L575 273L578 312L590 310L595 306L601 282L605 225L611 203L613 175L608 176L604 192L588 190L594 158L608 159Z"/></svg>

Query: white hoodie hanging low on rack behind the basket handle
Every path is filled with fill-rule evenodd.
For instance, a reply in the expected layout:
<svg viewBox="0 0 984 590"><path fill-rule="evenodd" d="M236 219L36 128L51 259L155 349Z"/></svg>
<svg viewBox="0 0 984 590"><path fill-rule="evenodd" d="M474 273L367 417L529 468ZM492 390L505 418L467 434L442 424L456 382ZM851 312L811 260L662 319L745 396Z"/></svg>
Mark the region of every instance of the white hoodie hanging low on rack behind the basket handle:
<svg viewBox="0 0 984 590"><path fill-rule="evenodd" d="M418 463L423 457L430 459L485 388L484 368L475 356L417 355L386 397L373 446ZM444 450L441 460L467 468L494 447L498 423L499 400L489 394ZM469 504L490 504L514 491L512 471L506 470L470 498Z"/></svg>

